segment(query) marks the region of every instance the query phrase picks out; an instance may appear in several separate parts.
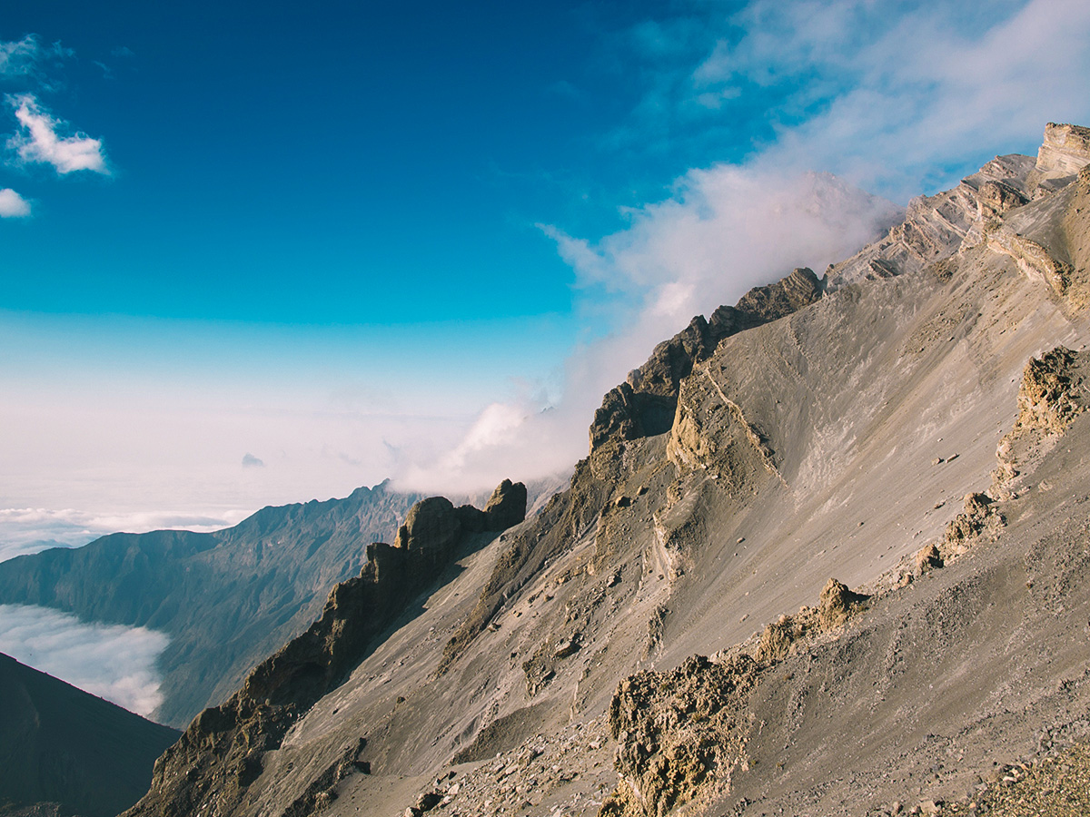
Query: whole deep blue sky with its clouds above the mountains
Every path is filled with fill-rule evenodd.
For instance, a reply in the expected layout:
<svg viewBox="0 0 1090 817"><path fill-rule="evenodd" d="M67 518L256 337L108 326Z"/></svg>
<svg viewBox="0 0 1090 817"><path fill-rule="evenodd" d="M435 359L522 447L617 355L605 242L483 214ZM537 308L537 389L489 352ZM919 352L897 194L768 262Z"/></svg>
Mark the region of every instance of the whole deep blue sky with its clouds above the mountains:
<svg viewBox="0 0 1090 817"><path fill-rule="evenodd" d="M19 547L562 468L692 314L1090 122L1075 0L13 0L0 44Z"/></svg>

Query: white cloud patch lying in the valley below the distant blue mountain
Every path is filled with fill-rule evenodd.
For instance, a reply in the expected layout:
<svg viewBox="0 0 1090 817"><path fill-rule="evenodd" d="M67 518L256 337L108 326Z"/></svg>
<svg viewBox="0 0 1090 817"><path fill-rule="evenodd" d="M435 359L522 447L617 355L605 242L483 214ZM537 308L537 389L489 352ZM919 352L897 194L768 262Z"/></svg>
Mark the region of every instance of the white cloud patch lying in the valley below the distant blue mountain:
<svg viewBox="0 0 1090 817"><path fill-rule="evenodd" d="M44 607L0 605L0 653L143 716L162 703L155 664L169 641L146 627L88 624Z"/></svg>

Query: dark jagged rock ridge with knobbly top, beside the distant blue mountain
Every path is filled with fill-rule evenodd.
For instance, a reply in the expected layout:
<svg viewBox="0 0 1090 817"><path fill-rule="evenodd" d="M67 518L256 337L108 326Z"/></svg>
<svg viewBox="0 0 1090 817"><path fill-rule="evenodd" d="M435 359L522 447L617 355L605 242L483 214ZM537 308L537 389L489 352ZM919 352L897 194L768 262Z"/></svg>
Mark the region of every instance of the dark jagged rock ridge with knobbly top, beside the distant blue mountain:
<svg viewBox="0 0 1090 817"><path fill-rule="evenodd" d="M279 747L292 723L338 686L375 638L440 577L467 535L521 521L525 496L521 484L505 481L493 493L488 512L471 509L471 514L444 497L414 504L395 545L368 545L360 575L334 587L320 618L305 633L255 667L230 699L194 719L156 763L150 791L128 814L231 813L261 776L263 754ZM464 519L473 522L467 529ZM324 791L319 785L304 793L300 813L308 814Z"/></svg>

